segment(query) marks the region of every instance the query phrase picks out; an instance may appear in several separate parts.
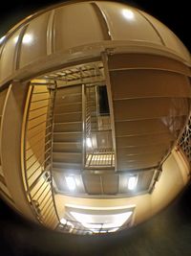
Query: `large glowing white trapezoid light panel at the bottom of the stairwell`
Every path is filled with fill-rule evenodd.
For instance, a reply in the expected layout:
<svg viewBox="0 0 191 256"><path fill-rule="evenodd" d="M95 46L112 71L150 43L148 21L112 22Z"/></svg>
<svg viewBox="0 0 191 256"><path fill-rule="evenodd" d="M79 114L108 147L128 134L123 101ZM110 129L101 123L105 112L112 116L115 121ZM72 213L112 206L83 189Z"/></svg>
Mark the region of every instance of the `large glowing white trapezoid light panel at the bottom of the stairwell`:
<svg viewBox="0 0 191 256"><path fill-rule="evenodd" d="M71 212L71 215L84 227L96 233L97 231L99 232L100 229L102 229L103 231L109 231L110 229L112 229L113 231L111 230L111 232L117 231L117 229L131 217L132 213L132 211L129 211L126 213L113 215L90 215Z"/></svg>

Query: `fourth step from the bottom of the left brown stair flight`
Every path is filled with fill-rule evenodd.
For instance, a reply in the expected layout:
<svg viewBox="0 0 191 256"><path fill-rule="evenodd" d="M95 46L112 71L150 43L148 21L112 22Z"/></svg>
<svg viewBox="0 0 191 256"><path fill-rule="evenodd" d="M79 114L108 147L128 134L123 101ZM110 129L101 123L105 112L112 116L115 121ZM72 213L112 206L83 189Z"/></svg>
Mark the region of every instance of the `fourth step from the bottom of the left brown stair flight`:
<svg viewBox="0 0 191 256"><path fill-rule="evenodd" d="M53 142L82 142L81 132L53 132Z"/></svg>

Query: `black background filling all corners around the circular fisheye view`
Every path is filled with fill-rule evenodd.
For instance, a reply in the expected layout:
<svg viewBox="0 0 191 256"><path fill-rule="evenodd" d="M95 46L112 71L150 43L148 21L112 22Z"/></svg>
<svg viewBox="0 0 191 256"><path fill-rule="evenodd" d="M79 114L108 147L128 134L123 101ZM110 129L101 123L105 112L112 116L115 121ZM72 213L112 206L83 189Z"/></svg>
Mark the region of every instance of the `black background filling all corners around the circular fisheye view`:
<svg viewBox="0 0 191 256"><path fill-rule="evenodd" d="M0 37L27 15L58 2L4 1ZM157 17L191 49L188 0L123 2ZM191 187L152 220L108 238L78 238L52 232L21 218L0 200L0 256L33 255L191 256Z"/></svg>

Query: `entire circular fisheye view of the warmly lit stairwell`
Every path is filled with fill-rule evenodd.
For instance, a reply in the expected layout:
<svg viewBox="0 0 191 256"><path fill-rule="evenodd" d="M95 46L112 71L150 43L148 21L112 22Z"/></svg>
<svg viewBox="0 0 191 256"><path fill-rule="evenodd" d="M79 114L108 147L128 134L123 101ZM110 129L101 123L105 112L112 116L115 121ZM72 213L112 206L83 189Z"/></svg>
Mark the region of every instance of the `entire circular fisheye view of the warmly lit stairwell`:
<svg viewBox="0 0 191 256"><path fill-rule="evenodd" d="M156 215L190 179L188 50L124 3L60 3L0 38L0 196L61 233Z"/></svg>

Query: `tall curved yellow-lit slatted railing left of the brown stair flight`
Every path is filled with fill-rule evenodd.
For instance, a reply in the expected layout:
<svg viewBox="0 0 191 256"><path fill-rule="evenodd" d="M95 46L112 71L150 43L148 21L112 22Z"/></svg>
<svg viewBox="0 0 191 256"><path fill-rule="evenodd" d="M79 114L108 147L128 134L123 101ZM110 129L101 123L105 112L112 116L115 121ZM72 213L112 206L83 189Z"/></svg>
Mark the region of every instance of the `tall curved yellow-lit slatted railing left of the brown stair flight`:
<svg viewBox="0 0 191 256"><path fill-rule="evenodd" d="M53 198L54 84L32 82L23 122L23 175L36 219L55 228L59 218Z"/></svg>

